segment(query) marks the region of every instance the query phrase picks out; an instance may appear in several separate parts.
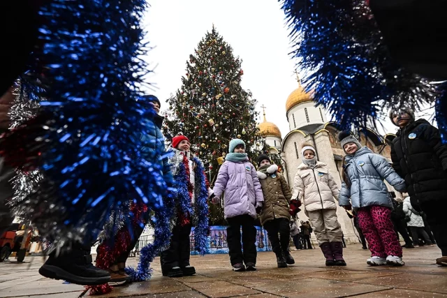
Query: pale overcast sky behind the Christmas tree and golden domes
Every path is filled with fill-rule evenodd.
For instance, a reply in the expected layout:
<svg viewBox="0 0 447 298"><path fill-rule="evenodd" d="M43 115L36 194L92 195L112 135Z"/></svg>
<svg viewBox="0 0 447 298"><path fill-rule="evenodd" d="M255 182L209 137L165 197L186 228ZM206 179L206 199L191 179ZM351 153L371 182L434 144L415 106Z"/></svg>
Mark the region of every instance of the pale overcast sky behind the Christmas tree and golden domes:
<svg viewBox="0 0 447 298"><path fill-rule="evenodd" d="M283 137L288 133L286 99L298 82L279 1L149 0L149 4L144 26L154 48L145 59L154 73L147 81L154 84L152 93L162 101L162 110L167 108L164 100L182 84L189 54L214 23L242 59L242 87L253 92L257 110L262 112L265 105L268 121L279 127ZM383 124L388 133L395 133L389 119Z"/></svg>

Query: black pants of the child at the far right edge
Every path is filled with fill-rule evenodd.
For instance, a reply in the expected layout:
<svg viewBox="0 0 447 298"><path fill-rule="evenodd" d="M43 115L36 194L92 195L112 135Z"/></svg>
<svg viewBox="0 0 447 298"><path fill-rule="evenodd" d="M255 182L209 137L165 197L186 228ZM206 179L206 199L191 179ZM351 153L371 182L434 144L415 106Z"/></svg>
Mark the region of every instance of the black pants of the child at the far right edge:
<svg viewBox="0 0 447 298"><path fill-rule="evenodd" d="M445 201L446 200L427 202L420 206L425 214L427 214L427 222L430 225L430 228L432 228L434 239L439 248L441 248L443 257L447 257L447 202Z"/></svg>

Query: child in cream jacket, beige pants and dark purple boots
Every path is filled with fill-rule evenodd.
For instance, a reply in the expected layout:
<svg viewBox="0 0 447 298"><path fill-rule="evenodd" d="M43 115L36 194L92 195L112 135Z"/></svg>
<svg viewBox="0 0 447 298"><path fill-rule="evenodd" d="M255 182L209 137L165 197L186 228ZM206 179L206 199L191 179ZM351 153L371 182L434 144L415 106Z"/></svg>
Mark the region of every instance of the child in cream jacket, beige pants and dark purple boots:
<svg viewBox="0 0 447 298"><path fill-rule="evenodd" d="M302 144L302 163L298 166L293 183L292 200L300 200L305 214L314 227L315 237L326 266L346 266L343 259L342 226L337 218L339 188L325 163L316 158L312 144Z"/></svg>

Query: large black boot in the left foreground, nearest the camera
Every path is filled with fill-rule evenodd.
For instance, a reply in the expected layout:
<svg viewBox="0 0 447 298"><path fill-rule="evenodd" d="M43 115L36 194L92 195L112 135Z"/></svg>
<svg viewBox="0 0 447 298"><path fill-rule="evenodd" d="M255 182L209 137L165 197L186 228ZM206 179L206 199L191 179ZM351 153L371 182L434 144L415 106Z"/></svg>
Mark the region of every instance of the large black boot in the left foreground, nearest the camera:
<svg viewBox="0 0 447 298"><path fill-rule="evenodd" d="M50 257L39 269L42 276L62 279L78 285L102 285L110 281L108 271L94 267L90 250L72 248L68 253L58 256L50 253Z"/></svg>

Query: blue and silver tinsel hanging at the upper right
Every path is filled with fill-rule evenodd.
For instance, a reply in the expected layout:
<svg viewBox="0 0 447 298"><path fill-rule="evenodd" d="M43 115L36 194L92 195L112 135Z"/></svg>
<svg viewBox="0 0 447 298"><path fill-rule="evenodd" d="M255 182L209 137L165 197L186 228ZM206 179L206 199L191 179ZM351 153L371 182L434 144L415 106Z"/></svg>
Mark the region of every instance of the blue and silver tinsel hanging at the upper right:
<svg viewBox="0 0 447 298"><path fill-rule="evenodd" d="M432 102L432 86L390 57L365 1L280 1L306 89L343 129L374 124L384 107Z"/></svg>

